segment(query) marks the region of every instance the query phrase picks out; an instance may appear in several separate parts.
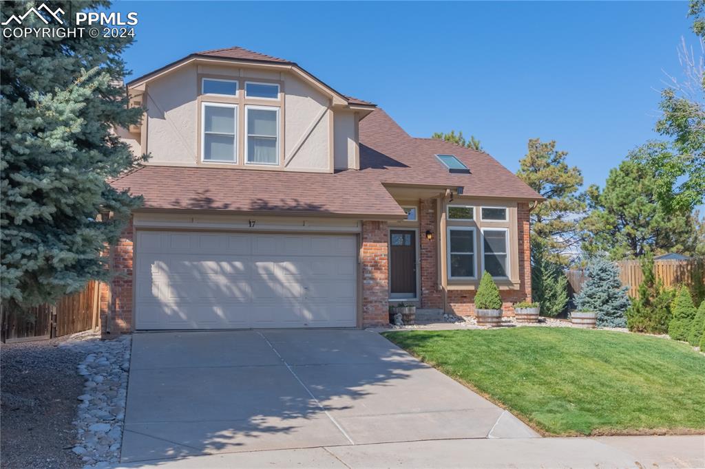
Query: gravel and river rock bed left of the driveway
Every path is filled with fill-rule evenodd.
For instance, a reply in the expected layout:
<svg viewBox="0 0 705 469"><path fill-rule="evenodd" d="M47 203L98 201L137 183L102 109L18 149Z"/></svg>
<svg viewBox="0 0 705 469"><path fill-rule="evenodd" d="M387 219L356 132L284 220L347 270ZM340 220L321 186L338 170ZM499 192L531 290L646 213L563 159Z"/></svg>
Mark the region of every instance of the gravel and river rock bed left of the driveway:
<svg viewBox="0 0 705 469"><path fill-rule="evenodd" d="M0 348L1 468L106 467L122 440L130 336L80 332Z"/></svg>

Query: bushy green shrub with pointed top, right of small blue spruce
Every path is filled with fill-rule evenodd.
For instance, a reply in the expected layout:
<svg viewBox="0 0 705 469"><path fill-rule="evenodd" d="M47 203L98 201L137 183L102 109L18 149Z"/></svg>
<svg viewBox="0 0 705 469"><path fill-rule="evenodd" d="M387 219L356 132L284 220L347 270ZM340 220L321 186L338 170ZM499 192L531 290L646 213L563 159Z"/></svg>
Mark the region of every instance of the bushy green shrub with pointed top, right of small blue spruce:
<svg viewBox="0 0 705 469"><path fill-rule="evenodd" d="M663 282L656 280L653 256L646 256L642 261L642 273L644 280L639 285L639 298L632 300L632 306L627 309L627 327L632 332L666 334L675 291L664 289Z"/></svg>

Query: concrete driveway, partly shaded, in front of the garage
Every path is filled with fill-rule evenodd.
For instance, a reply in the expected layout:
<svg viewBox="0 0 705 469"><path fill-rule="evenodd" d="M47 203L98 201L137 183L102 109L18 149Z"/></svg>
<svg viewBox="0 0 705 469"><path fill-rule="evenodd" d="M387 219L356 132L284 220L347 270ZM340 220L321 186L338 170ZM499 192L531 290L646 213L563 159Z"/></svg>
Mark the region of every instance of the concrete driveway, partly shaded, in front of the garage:
<svg viewBox="0 0 705 469"><path fill-rule="evenodd" d="M510 413L374 332L133 337L123 462L537 436Z"/></svg>

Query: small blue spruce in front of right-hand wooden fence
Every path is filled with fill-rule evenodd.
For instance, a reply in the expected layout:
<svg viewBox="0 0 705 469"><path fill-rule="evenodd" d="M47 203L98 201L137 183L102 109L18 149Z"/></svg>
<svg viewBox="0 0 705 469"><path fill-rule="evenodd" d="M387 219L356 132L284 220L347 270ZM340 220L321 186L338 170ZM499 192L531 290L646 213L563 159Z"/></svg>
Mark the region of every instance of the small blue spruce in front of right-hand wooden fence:
<svg viewBox="0 0 705 469"><path fill-rule="evenodd" d="M576 306L580 311L596 311L599 327L625 327L625 311L630 306L627 289L615 265L595 257L587 265L587 280L575 298Z"/></svg>

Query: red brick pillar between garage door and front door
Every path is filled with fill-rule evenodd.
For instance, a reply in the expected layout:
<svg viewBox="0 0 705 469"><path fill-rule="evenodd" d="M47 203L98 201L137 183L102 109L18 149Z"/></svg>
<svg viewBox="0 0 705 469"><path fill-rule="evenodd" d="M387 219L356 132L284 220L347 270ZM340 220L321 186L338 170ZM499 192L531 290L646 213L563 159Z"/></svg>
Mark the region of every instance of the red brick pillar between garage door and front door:
<svg viewBox="0 0 705 469"><path fill-rule="evenodd" d="M362 222L362 325L389 322L388 224Z"/></svg>

